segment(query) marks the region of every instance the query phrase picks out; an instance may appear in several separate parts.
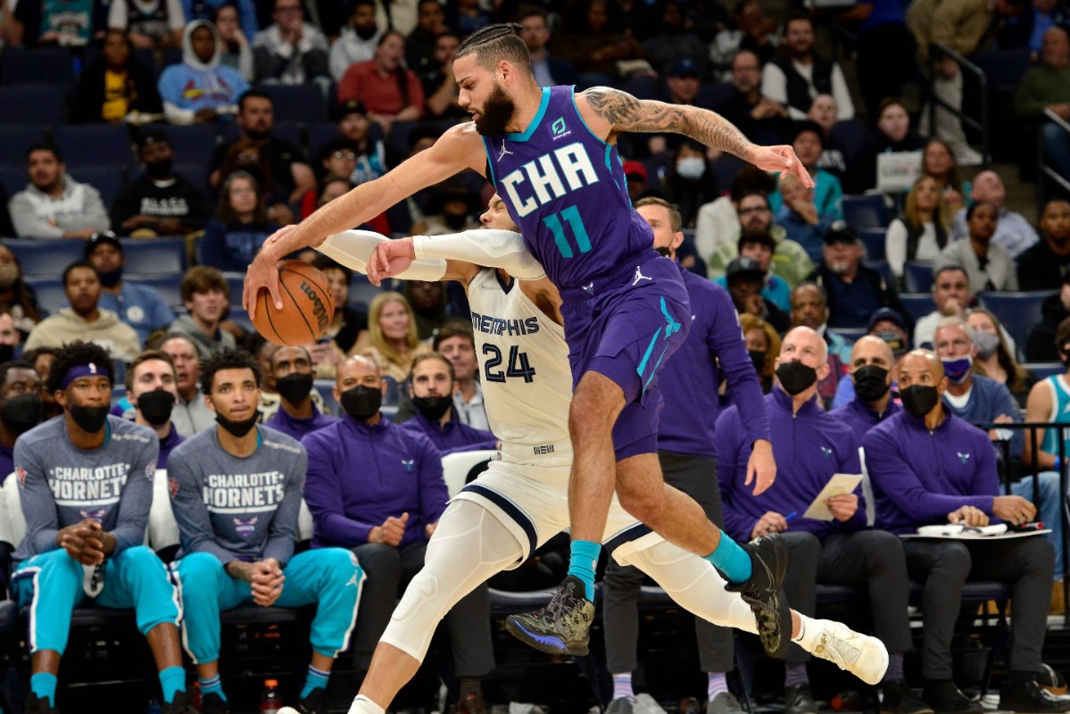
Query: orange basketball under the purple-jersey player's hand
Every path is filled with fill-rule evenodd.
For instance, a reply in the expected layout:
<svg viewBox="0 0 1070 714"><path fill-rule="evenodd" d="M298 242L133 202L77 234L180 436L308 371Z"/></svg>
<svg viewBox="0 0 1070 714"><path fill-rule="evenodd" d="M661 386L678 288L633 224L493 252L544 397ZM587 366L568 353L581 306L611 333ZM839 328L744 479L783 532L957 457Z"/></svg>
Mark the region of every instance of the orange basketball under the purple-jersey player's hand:
<svg viewBox="0 0 1070 714"><path fill-rule="evenodd" d="M257 332L276 345L308 345L326 331L334 318L334 293L326 276L301 260L278 267L278 289L282 309L275 307L271 293L257 294Z"/></svg>

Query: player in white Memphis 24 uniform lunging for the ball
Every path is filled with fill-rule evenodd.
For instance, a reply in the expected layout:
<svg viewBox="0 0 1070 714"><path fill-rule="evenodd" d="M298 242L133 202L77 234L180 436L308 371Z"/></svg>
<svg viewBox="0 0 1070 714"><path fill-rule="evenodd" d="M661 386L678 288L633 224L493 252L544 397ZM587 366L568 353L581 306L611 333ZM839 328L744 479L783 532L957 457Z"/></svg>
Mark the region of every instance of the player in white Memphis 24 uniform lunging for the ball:
<svg viewBox="0 0 1070 714"><path fill-rule="evenodd" d="M439 520L424 568L394 611L350 714L383 714L415 674L446 611L477 584L517 567L568 527L572 390L561 299L520 236L508 232L515 225L499 196L491 199L482 222L485 228L499 230L433 241L445 245L459 239L467 243L464 255L474 258L486 250L486 260L482 256L474 262L425 259L398 277L454 279L465 286L487 416L502 440L501 453L453 498ZM346 231L330 237L319 249L364 272L376 244L385 240L368 231ZM480 268L480 262L491 261L490 255L503 267ZM738 593L724 590L713 564L637 522L615 497L602 544L622 564L649 575L690 612L715 624L756 632L749 606ZM880 640L838 622L792 611L792 638L870 684L878 682L888 666Z"/></svg>

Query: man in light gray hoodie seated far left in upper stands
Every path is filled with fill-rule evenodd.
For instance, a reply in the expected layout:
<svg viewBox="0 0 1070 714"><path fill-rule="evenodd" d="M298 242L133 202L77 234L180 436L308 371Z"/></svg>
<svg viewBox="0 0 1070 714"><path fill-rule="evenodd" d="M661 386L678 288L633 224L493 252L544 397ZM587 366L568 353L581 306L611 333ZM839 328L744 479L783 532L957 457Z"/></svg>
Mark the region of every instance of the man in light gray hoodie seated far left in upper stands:
<svg viewBox="0 0 1070 714"><path fill-rule="evenodd" d="M59 149L34 145L26 152L29 183L15 194L7 210L18 238L85 240L108 230L101 193L66 172Z"/></svg>

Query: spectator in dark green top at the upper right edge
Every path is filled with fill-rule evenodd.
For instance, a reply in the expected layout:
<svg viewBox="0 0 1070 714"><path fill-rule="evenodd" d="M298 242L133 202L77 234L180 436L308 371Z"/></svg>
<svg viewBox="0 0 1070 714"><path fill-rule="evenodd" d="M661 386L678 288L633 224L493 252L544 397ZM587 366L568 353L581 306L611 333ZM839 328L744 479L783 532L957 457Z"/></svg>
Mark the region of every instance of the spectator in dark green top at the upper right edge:
<svg viewBox="0 0 1070 714"><path fill-rule="evenodd" d="M1045 162L1064 178L1070 178L1070 140L1066 131L1044 115L1051 111L1070 121L1070 37L1065 29L1044 31L1040 59L1040 65L1030 67L1014 91L1014 113L1040 126Z"/></svg>

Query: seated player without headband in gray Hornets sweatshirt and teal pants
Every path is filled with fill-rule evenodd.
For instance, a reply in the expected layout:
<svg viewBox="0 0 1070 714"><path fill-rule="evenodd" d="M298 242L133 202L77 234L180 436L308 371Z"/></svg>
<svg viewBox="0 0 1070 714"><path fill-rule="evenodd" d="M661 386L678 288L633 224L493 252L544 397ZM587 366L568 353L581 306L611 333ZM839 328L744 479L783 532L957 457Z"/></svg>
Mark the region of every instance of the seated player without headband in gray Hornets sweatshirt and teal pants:
<svg viewBox="0 0 1070 714"><path fill-rule="evenodd" d="M342 548L294 553L308 456L294 439L257 426L260 369L253 356L214 355L204 363L201 389L217 426L180 444L168 465L182 540L173 572L184 583L183 639L197 668L201 712L229 711L219 682L219 612L248 604L317 606L299 698L302 711L326 711L327 680L349 644L364 573Z"/></svg>

